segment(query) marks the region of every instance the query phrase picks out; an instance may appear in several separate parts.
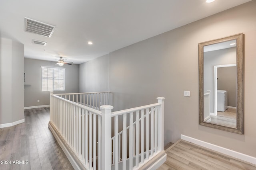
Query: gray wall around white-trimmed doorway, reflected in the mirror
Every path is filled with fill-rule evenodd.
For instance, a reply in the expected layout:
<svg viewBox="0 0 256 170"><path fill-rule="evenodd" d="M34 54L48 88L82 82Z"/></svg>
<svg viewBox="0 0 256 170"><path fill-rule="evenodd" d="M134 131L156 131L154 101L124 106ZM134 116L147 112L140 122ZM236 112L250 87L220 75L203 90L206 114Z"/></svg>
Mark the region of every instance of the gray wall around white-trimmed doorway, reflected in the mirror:
<svg viewBox="0 0 256 170"><path fill-rule="evenodd" d="M224 64L236 64L236 47L204 53L204 92L211 90L211 113L214 113L214 66Z"/></svg>

